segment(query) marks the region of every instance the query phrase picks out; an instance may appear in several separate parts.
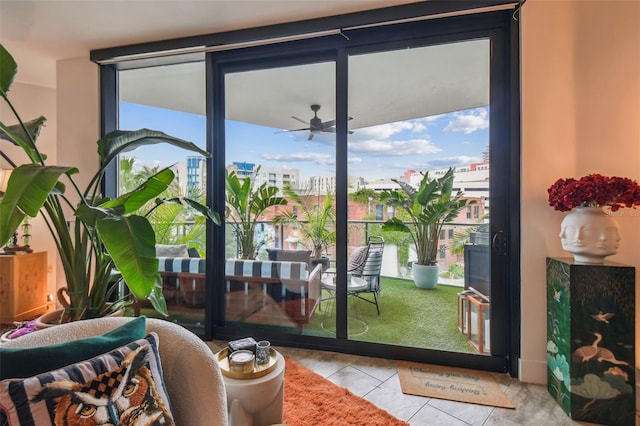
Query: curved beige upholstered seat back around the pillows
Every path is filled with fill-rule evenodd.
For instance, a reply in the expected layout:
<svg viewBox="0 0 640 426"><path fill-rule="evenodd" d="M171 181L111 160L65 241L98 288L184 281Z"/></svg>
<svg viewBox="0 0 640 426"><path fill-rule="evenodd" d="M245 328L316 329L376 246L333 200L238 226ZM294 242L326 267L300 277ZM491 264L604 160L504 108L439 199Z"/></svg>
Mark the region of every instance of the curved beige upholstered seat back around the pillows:
<svg viewBox="0 0 640 426"><path fill-rule="evenodd" d="M76 321L40 330L3 348L33 348L102 335L132 318ZM176 324L146 319L147 332L158 335L158 352L171 411L177 425L228 424L227 400L220 367L213 352L195 334Z"/></svg>

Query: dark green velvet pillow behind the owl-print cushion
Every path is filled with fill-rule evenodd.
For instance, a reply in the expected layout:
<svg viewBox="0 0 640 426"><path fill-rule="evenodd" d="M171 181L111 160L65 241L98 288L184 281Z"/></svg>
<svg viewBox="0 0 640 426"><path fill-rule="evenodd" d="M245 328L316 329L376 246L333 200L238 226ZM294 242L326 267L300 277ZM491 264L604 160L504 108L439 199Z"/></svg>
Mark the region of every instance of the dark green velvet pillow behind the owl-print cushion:
<svg viewBox="0 0 640 426"><path fill-rule="evenodd" d="M146 329L147 319L142 316L100 336L24 349L0 345L0 380L31 377L93 358L144 338Z"/></svg>

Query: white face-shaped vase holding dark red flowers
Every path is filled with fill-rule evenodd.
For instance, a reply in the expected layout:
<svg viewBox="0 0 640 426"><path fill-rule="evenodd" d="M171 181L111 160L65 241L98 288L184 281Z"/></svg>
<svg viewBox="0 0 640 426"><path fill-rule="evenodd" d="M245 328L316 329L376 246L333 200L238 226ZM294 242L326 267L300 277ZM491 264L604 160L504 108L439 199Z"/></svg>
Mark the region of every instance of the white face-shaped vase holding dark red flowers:
<svg viewBox="0 0 640 426"><path fill-rule="evenodd" d="M611 216L598 208L585 208L565 216L560 241L576 262L603 263L606 256L618 252L620 235Z"/></svg>

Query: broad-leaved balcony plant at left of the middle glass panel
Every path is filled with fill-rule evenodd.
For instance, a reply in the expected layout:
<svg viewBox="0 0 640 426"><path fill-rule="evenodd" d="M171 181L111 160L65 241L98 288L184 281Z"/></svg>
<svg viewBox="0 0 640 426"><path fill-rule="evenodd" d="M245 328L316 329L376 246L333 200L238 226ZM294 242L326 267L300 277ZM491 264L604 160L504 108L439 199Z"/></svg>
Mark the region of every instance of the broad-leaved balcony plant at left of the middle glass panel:
<svg viewBox="0 0 640 426"><path fill-rule="evenodd" d="M240 257L255 259L255 233L258 219L265 210L273 206L286 205L287 200L278 195L277 186L269 186L266 182L256 187L256 176L260 166L251 176L240 179L236 172L226 173L226 213L228 222L233 228L240 243Z"/></svg>

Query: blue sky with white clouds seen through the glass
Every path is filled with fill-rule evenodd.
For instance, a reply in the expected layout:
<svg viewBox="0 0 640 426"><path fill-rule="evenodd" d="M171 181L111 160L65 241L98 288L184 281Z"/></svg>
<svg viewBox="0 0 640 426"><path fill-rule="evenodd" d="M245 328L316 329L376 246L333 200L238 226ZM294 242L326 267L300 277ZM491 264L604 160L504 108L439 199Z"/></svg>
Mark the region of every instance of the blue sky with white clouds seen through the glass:
<svg viewBox="0 0 640 426"><path fill-rule="evenodd" d="M294 121L292 128L304 127ZM120 103L120 128L164 131L205 148L205 117L127 102ZM333 134L283 132L282 129L227 121L225 164L297 168L301 179L335 174ZM355 129L349 136L349 175L367 180L397 178L407 170L428 171L482 161L489 144L489 109L474 108L427 118ZM159 149L159 147L161 147ZM152 145L126 153L136 166L169 166L185 151Z"/></svg>

